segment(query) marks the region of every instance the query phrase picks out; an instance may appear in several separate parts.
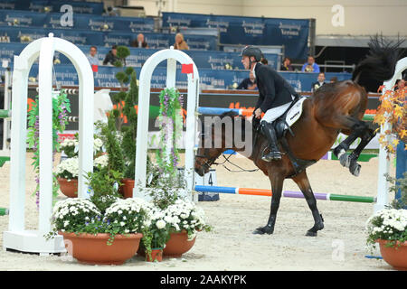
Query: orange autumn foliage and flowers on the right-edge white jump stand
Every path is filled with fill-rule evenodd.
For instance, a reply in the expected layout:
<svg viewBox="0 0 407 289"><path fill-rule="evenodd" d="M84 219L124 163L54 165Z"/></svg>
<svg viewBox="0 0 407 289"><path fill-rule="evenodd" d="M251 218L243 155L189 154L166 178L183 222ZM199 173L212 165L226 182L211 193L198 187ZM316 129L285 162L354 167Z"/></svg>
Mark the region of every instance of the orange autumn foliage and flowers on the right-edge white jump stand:
<svg viewBox="0 0 407 289"><path fill-rule="evenodd" d="M383 91L381 86L378 91ZM374 123L383 126L385 123L392 125L392 128L379 135L379 143L383 145L388 154L394 154L396 146L402 140L407 143L407 110L405 106L405 94L407 89L385 90L381 96L381 104L377 108L374 116ZM378 128L377 130L379 130ZM395 135L395 138L389 137ZM407 149L407 144L404 147Z"/></svg>

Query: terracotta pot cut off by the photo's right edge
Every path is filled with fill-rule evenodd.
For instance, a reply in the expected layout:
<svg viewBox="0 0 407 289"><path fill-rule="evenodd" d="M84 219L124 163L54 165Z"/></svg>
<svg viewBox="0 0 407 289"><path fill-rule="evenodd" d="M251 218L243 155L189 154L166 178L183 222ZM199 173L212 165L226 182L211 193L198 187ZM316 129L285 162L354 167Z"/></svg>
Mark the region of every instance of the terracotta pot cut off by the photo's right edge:
<svg viewBox="0 0 407 289"><path fill-rule="evenodd" d="M407 242L397 242L395 247L386 247L388 240L378 239L376 242L380 245L380 253L384 261L396 270L407 270Z"/></svg>

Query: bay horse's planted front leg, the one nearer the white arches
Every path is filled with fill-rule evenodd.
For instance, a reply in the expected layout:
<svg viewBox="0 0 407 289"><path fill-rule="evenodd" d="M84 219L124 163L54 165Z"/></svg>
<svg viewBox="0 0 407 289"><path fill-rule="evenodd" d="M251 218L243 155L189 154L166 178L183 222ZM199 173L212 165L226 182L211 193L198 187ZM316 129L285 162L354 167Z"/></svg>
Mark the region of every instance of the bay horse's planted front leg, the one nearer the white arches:
<svg viewBox="0 0 407 289"><path fill-rule="evenodd" d="M256 228L253 234L272 234L274 232L274 225L276 223L277 211L279 210L279 200L281 199L281 191L284 182L284 177L281 175L270 175L271 182L271 206L270 206L270 217L267 225L264 227Z"/></svg>

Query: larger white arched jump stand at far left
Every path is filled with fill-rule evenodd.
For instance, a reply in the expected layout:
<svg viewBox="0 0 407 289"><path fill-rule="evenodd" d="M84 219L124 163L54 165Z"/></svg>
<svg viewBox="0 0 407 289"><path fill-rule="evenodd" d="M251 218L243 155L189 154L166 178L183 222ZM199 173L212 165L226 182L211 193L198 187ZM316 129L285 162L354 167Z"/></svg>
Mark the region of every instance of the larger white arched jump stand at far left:
<svg viewBox="0 0 407 289"><path fill-rule="evenodd" d="M80 100L80 172L93 171L93 73L85 54L71 42L61 38L38 39L28 44L19 56L14 56L13 106L10 155L10 219L8 230L3 232L3 247L22 252L60 253L65 251L62 236L46 240L51 231L52 216L52 58L54 51L67 56L78 72ZM28 74L39 60L39 122L40 122L40 205L39 228L24 228L25 207L25 158L27 136ZM78 197L86 198L87 186L83 173L79 176Z"/></svg>

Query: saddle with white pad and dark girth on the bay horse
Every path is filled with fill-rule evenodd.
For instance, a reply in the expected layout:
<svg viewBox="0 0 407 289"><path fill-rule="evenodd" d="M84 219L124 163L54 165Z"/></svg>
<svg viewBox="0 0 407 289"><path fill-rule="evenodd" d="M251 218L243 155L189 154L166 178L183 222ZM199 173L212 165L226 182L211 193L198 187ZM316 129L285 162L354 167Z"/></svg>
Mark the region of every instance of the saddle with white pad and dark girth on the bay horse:
<svg viewBox="0 0 407 289"><path fill-rule="evenodd" d="M287 108L287 110L273 122L274 129L276 130L277 139L281 144L283 151L288 154L289 160L292 163L295 173L290 177L297 175L299 172L304 171L308 166L317 163L316 160L301 160L298 159L289 148L289 143L287 142L286 134L289 132L290 135L295 136L290 126L294 125L299 117L302 115L302 104L306 98L296 97L293 102ZM253 120L257 118L253 118ZM253 122L254 130L256 134L264 135L260 129L260 120ZM265 135L264 135L265 136ZM254 145L253 145L254 146ZM281 152L283 153L283 152Z"/></svg>

